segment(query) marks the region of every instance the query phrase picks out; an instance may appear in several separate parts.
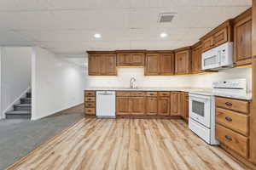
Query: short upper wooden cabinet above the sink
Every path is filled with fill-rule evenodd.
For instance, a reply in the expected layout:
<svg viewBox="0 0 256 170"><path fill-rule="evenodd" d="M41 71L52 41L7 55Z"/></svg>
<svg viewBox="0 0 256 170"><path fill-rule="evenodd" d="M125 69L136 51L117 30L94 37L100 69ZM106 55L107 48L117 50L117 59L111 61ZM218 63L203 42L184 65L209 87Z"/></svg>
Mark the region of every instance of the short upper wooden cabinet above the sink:
<svg viewBox="0 0 256 170"><path fill-rule="evenodd" d="M116 51L117 66L144 66L145 52L142 51Z"/></svg>

